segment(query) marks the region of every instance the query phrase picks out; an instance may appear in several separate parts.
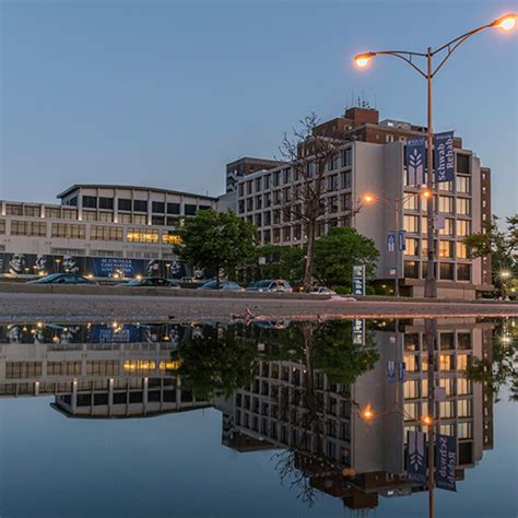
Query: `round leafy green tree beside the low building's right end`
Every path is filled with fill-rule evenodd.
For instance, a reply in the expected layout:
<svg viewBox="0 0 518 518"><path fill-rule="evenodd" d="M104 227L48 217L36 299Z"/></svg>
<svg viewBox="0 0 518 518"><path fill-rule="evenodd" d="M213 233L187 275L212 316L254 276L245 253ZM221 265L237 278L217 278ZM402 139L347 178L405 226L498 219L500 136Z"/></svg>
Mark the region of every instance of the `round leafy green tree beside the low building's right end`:
<svg viewBox="0 0 518 518"><path fill-rule="evenodd" d="M256 249L256 229L231 211L198 211L179 234L181 244L175 246L175 252L192 267L213 270L217 284L221 270L232 274Z"/></svg>

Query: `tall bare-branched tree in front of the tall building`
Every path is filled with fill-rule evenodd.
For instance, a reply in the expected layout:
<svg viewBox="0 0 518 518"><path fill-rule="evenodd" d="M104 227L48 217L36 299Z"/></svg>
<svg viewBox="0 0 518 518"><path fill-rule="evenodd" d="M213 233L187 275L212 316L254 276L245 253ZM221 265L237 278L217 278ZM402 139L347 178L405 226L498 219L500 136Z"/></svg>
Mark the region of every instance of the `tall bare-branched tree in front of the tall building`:
<svg viewBox="0 0 518 518"><path fill-rule="evenodd" d="M301 120L298 129L293 129L292 138L284 133L280 146L281 158L289 163L293 175L291 189L284 191L282 212L285 220L301 226L301 240L307 246L305 292L311 290L317 226L323 225L327 215L335 212L338 207L335 197L328 196L337 189L328 173L332 168L329 166L340 156L343 144L342 139L327 136L317 115L311 113ZM346 213L343 217L348 220L354 213L352 203L342 209Z"/></svg>

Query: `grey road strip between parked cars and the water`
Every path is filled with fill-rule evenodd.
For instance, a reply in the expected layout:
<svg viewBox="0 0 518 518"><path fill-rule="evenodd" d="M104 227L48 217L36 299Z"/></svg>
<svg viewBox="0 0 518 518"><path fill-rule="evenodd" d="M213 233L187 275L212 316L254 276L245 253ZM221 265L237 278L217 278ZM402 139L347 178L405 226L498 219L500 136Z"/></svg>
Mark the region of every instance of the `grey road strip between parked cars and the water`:
<svg viewBox="0 0 518 518"><path fill-rule="evenodd" d="M518 316L518 304L198 296L0 293L0 322L228 320L246 308L261 319Z"/></svg>

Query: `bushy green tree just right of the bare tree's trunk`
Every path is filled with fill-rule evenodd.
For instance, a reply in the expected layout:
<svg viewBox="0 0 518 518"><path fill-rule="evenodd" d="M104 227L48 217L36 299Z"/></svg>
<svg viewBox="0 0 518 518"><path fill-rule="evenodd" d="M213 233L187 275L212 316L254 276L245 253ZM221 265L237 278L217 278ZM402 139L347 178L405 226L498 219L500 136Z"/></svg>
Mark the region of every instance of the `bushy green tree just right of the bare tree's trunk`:
<svg viewBox="0 0 518 518"><path fill-rule="evenodd" d="M331 228L315 245L315 276L327 286L351 286L353 264L365 264L366 276L372 279L378 257L374 240L355 228Z"/></svg>

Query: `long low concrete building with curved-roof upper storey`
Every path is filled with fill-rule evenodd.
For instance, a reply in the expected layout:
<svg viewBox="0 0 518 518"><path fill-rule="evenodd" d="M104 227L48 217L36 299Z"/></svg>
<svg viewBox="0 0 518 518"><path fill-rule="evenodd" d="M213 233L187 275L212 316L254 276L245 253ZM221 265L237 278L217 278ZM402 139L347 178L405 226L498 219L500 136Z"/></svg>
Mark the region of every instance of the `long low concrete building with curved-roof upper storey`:
<svg viewBox="0 0 518 518"><path fill-rule="evenodd" d="M58 198L0 201L0 275L181 278L192 272L173 252L178 228L198 210L217 209L212 197L120 185L73 185Z"/></svg>

